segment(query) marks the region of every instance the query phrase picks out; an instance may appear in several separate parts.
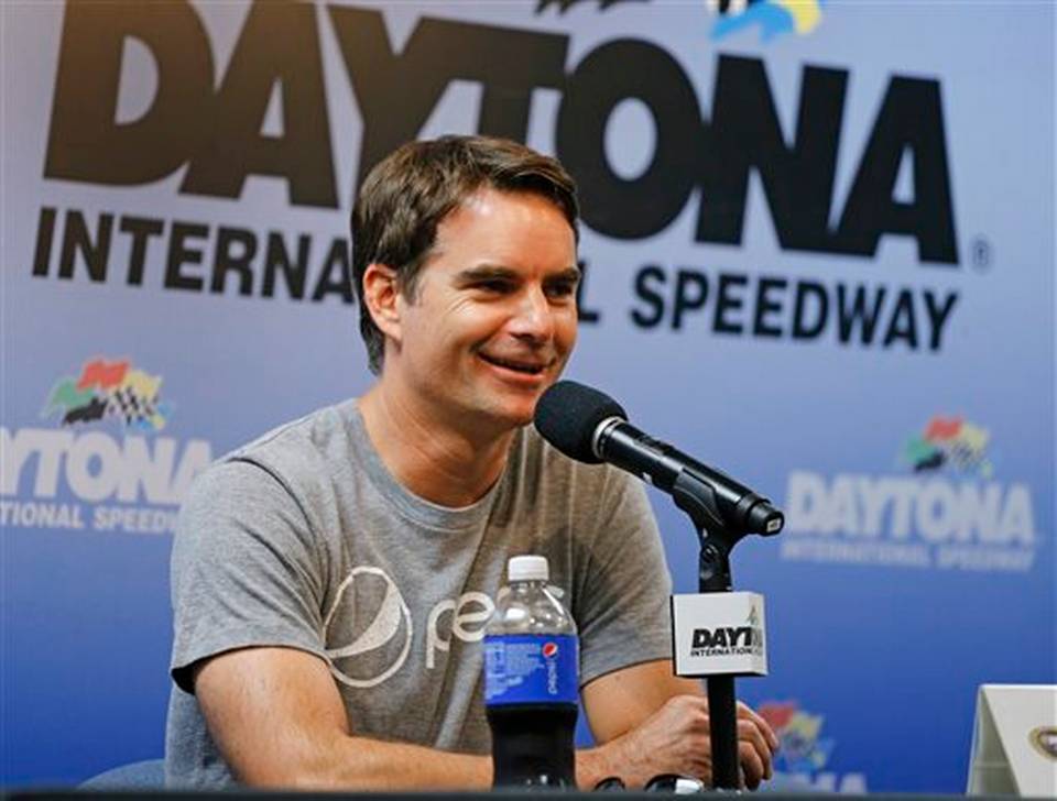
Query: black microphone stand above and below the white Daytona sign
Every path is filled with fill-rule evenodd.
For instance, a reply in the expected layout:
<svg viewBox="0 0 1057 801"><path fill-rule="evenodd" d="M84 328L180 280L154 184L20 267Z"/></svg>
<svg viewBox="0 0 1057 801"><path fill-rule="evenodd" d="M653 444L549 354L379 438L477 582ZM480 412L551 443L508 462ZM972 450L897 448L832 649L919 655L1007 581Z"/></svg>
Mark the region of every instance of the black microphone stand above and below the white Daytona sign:
<svg viewBox="0 0 1057 801"><path fill-rule="evenodd" d="M682 471L672 489L675 505L694 523L701 546L698 559L698 592L730 592L730 551L745 536L723 520L716 493L710 486ZM712 743L712 788L738 790L738 707L735 673L709 676L708 717Z"/></svg>

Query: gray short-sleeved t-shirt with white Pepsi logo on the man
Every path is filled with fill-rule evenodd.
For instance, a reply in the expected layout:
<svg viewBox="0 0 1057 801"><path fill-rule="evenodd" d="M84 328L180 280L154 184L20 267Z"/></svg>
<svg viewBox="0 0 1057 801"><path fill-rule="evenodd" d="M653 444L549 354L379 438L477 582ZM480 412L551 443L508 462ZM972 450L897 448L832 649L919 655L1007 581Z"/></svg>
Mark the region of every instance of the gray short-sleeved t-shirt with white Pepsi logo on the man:
<svg viewBox="0 0 1057 801"><path fill-rule="evenodd" d="M192 670L247 646L324 659L358 735L487 753L481 639L520 553L551 562L579 628L581 687L671 656L671 580L643 487L532 428L488 494L454 509L394 480L355 401L228 454L192 487L173 547L168 783L235 781Z"/></svg>

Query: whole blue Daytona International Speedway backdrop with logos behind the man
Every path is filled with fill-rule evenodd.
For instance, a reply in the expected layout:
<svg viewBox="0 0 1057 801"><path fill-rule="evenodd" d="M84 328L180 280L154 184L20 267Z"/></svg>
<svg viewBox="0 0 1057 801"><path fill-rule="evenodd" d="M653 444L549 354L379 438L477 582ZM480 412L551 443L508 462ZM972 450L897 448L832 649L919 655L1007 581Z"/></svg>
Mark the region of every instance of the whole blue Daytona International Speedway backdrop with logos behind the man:
<svg viewBox="0 0 1057 801"><path fill-rule="evenodd" d="M788 515L773 786L960 792L977 687L1057 681L1051 3L0 13L0 782L161 756L181 496L369 385L351 201L447 132L579 182L567 375Z"/></svg>

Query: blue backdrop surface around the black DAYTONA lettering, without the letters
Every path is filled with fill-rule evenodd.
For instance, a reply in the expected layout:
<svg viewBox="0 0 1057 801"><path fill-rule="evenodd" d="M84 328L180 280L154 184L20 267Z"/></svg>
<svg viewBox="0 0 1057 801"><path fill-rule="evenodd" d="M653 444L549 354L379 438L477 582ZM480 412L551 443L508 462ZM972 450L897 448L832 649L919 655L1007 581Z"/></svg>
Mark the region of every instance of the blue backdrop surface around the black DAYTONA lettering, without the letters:
<svg viewBox="0 0 1057 801"><path fill-rule="evenodd" d="M604 12L578 3L565 13L536 13L534 2L372 8L384 11L394 41L419 17L568 34L568 69L607 41L644 39L680 63L706 117L717 55L761 58L786 132L794 130L803 67L847 69L838 210L891 76L940 81L959 265L923 266L915 243L895 235L882 238L869 259L783 251L756 178L750 180L742 245L697 243L695 194L666 230L646 240L584 230L580 250L590 265L585 300L602 319L581 327L568 374L618 397L640 427L722 465L778 504L794 471L827 480L912 476L900 451L935 415L963 415L989 431L993 480L1023 483L1031 492L1036 541L1028 571L792 561L774 539L747 540L734 562L735 583L767 596L771 647L771 676L740 682L740 693L754 704L795 703L821 716L817 745L821 749L827 740L831 749L807 779L829 772L839 784L840 777L859 775L876 791L962 791L977 687L1057 681L1054 7L829 3L814 31L769 42L752 25L712 39L716 15L704 2L629 3ZM238 4L198 10L218 70L244 12ZM127 245L117 243L106 283L90 283L81 268L73 281L31 276L42 206L81 209L89 219L109 211L259 233L277 229L288 238L310 232L322 249L345 234L348 201L336 210L296 207L284 182L274 178L250 178L237 201L179 195L183 169L135 187L45 178L64 9L4 4L2 14L3 427L55 429L54 418L40 416L48 392L97 355L129 358L134 367L162 375L173 413L159 436L181 443L208 440L214 456L362 392L370 376L356 312L333 296L312 304L286 300L282 290L271 300L230 289L164 290L160 246L148 261L144 285L129 287ZM327 17L320 11L317 18L336 174L352 175L359 112ZM127 56L122 99L143 108L152 91L150 62L142 54ZM530 144L551 152L554 106L553 92L540 92L530 124ZM622 113L610 121L610 158L625 165L649 161L649 114L632 107ZM421 135L471 132L476 121L472 91L457 86ZM987 270L970 257L978 238L991 246ZM693 265L713 282L718 272L737 272L890 290L956 289L959 305L935 353L841 347L831 336L808 343L724 338L710 331L710 306L679 331L645 331L629 312L641 307L632 282L647 263L669 272ZM118 441L126 436L112 420L90 430ZM31 461L11 500L32 500L26 476L33 470ZM949 472L937 480L982 481ZM696 539L666 497L653 498L676 589L693 591ZM77 498L61 482L56 500ZM842 537L835 535L851 541ZM161 756L170 546L167 535L4 526L4 786L76 782L117 764Z"/></svg>

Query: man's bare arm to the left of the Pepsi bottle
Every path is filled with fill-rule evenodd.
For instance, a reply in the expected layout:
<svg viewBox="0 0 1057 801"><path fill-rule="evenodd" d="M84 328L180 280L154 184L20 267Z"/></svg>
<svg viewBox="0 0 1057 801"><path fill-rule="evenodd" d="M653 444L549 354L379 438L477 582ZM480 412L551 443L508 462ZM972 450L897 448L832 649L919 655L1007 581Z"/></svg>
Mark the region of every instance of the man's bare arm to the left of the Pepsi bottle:
<svg viewBox="0 0 1057 801"><path fill-rule="evenodd" d="M227 651L196 671L195 694L235 776L255 787L484 789L489 757L356 736L319 657L292 648Z"/></svg>

